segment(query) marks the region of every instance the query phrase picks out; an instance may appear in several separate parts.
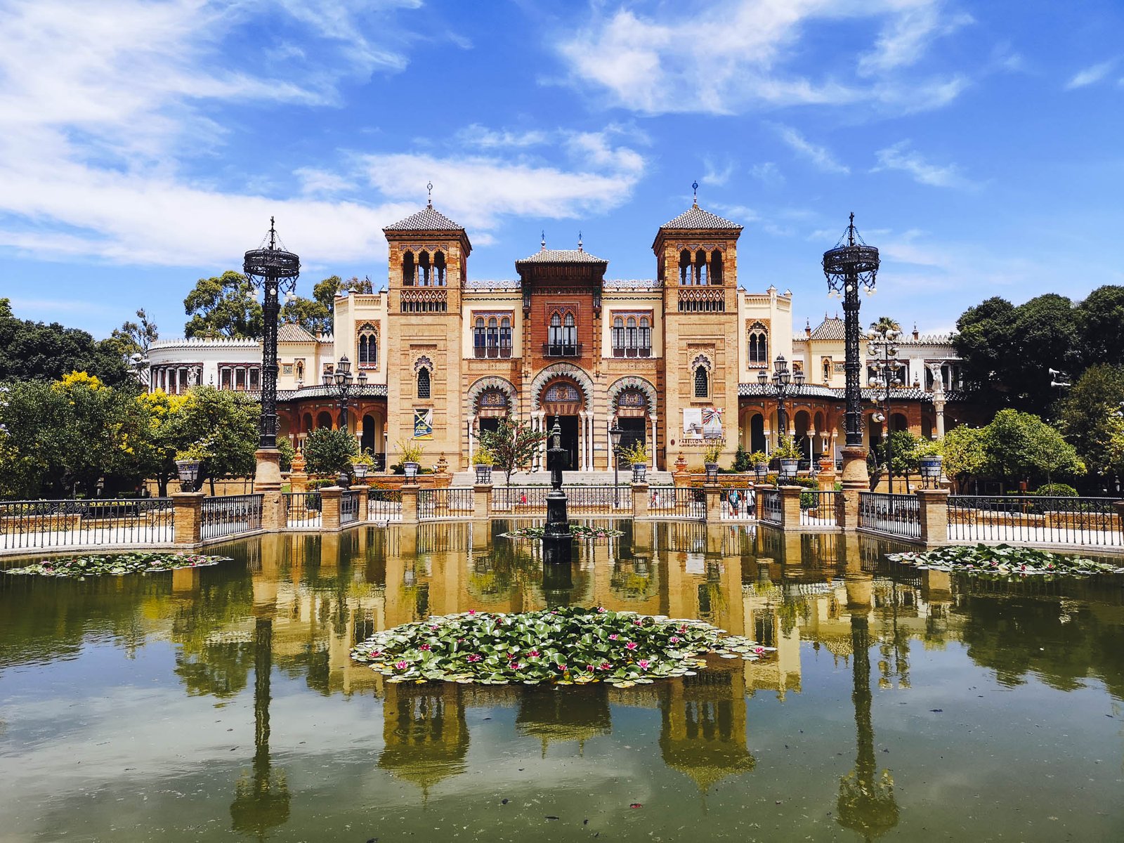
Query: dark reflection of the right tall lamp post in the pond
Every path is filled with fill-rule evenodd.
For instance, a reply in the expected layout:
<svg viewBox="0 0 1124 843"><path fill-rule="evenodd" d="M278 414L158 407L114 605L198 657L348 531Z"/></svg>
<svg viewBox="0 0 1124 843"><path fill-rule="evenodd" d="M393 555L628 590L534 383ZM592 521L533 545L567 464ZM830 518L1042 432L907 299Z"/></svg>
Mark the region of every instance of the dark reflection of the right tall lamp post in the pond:
<svg viewBox="0 0 1124 843"><path fill-rule="evenodd" d="M840 825L871 840L898 824L898 804L889 770L878 774L874 762L874 726L871 723L870 626L865 615L851 615L851 650L854 669L855 743L854 770L840 779L836 807Z"/></svg>

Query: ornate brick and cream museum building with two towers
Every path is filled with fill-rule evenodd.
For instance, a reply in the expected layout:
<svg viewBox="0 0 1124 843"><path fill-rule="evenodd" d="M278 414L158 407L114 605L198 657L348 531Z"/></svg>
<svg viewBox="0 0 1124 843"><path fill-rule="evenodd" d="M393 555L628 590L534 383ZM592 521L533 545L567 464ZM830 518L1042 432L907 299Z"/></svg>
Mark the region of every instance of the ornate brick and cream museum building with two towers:
<svg viewBox="0 0 1124 843"><path fill-rule="evenodd" d="M611 468L614 422L649 444L654 469L680 453L701 464L715 437L728 465L738 442L777 442L778 357L791 375L788 433L812 457L843 445L843 320L825 316L794 334L791 293L738 287L742 226L697 203L659 227L655 278L638 281L606 278L609 262L580 239L556 250L545 238L515 262L517 278L471 279L468 233L432 202L383 232L386 290L336 299L330 336L279 330L278 433L298 447L315 427L339 425L337 389L323 379L345 356L365 377L350 390L347 427L387 464L399 461L396 443L414 438L423 464L444 456L466 469L475 434L513 414L538 427L558 417L575 470ZM888 405L885 389L863 389L868 444L887 425L942 435L964 410L950 336L915 329L897 346L900 386ZM880 377L869 351L864 341L868 378ZM148 356L151 389L260 387L256 341L158 341Z"/></svg>

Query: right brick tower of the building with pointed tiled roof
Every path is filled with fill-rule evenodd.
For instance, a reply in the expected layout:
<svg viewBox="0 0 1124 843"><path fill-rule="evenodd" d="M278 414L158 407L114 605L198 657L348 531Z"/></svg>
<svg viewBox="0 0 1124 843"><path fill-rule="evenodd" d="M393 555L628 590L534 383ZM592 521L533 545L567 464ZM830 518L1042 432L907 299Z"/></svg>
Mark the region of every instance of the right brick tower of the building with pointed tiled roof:
<svg viewBox="0 0 1124 843"><path fill-rule="evenodd" d="M697 182L692 187L698 190ZM722 462L737 447L741 234L742 226L696 200L660 226L652 244L663 285L668 454L682 451L692 465L703 463L704 437L718 434L718 419L725 437Z"/></svg>

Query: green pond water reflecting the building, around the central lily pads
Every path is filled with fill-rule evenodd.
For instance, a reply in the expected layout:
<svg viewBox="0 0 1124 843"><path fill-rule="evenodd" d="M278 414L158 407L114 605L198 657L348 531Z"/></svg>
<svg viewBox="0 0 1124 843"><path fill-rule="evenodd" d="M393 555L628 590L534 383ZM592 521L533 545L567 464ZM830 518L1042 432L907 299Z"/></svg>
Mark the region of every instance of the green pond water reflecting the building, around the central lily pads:
<svg viewBox="0 0 1124 843"><path fill-rule="evenodd" d="M1120 580L901 578L865 540L622 527L545 580L533 545L468 524L0 577L0 841L1124 839ZM777 653L558 690L387 685L347 658L427 614L560 604Z"/></svg>

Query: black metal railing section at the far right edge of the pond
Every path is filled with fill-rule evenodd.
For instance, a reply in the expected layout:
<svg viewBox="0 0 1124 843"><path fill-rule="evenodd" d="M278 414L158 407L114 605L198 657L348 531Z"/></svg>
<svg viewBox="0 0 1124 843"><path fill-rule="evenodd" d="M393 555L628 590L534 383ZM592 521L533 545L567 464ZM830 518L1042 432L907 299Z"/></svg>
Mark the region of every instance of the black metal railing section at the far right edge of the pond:
<svg viewBox="0 0 1124 843"><path fill-rule="evenodd" d="M949 540L1120 547L1116 498L952 495Z"/></svg>

